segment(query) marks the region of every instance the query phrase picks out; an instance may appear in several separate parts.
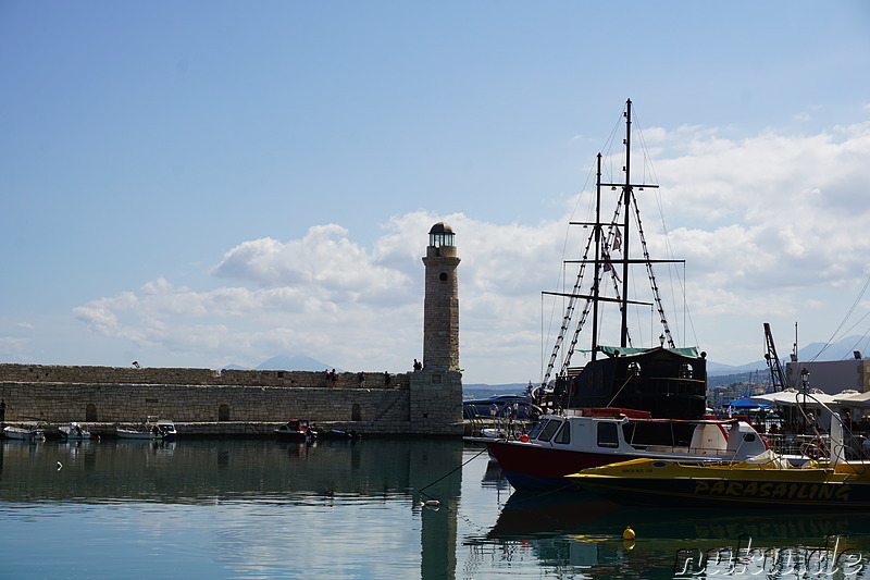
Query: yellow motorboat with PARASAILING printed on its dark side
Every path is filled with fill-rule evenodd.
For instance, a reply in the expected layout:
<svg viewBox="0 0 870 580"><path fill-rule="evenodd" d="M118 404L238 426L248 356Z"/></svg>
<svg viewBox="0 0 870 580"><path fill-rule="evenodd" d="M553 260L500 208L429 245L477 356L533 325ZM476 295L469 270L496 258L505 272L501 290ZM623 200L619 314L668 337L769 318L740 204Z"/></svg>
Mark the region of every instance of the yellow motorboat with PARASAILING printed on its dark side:
<svg viewBox="0 0 870 580"><path fill-rule="evenodd" d="M832 423L832 440L842 430ZM870 507L870 461L840 459L796 467L773 452L728 465L643 458L584 469L566 480L621 505L751 508Z"/></svg>

